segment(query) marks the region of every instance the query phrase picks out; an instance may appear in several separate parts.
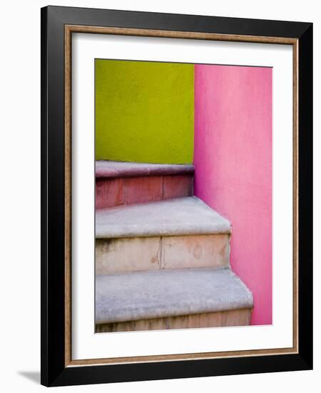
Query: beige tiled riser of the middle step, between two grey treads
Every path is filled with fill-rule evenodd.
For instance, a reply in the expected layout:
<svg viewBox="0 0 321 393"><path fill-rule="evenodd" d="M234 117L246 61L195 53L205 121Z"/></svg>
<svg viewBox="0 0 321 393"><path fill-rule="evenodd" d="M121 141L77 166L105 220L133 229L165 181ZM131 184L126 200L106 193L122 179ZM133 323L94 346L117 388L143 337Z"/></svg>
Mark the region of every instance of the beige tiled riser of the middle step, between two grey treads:
<svg viewBox="0 0 321 393"><path fill-rule="evenodd" d="M228 234L96 239L96 274L228 267L229 260Z"/></svg>

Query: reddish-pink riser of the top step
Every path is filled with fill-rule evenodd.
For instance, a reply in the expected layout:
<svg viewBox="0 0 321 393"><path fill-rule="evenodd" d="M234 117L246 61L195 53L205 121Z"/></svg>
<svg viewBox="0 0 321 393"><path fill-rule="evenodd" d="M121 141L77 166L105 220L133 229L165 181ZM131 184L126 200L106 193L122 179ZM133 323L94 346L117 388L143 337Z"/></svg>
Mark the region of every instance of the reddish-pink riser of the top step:
<svg viewBox="0 0 321 393"><path fill-rule="evenodd" d="M190 197L192 194L193 176L190 174L96 179L96 209Z"/></svg>

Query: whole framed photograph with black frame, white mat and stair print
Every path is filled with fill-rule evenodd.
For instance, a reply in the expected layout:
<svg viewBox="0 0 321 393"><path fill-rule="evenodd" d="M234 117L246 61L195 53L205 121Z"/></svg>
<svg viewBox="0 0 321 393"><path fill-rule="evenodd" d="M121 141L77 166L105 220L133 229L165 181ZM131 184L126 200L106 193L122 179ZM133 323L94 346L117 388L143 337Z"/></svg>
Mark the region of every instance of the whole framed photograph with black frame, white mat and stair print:
<svg viewBox="0 0 321 393"><path fill-rule="evenodd" d="M312 369L312 24L41 9L41 383Z"/></svg>

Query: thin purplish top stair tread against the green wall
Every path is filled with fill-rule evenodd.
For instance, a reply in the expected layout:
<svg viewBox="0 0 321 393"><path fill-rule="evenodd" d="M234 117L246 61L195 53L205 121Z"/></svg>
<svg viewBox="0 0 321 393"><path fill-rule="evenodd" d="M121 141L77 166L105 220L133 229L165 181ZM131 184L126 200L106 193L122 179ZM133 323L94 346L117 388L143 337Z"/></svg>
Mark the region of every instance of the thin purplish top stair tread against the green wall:
<svg viewBox="0 0 321 393"><path fill-rule="evenodd" d="M194 166L188 164L147 164L141 162L96 161L96 177L116 178L135 176L162 176L193 174Z"/></svg>

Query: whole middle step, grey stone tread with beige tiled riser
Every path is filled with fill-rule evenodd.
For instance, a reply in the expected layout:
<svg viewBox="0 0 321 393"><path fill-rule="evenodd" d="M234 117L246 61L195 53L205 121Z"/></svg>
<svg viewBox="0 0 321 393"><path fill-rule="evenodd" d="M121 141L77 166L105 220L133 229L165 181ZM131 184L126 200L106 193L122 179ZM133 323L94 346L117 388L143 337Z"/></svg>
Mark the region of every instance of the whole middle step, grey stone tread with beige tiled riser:
<svg viewBox="0 0 321 393"><path fill-rule="evenodd" d="M188 197L96 211L96 274L228 267L230 223Z"/></svg>

